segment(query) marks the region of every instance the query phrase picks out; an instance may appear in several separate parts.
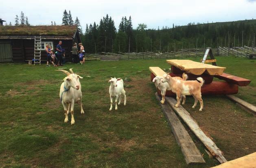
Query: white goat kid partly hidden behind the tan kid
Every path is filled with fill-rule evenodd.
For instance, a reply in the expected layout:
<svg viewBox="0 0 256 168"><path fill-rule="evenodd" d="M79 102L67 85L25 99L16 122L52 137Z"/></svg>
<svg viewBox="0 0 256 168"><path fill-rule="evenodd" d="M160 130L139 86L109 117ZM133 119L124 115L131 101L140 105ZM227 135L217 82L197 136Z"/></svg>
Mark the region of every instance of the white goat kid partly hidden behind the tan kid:
<svg viewBox="0 0 256 168"><path fill-rule="evenodd" d="M182 81L186 81L188 79L188 75L183 73L182 74L182 78L181 77L173 77L174 79L177 80L182 80ZM165 102L165 94L166 94L166 90L172 90L171 86L168 83L162 83L163 77L160 76L156 76L153 79L153 82L157 84L158 89L161 91L161 96L162 96L162 100L160 101L162 104L164 104ZM186 102L186 96L182 95L183 101L182 104L185 104Z"/></svg>

